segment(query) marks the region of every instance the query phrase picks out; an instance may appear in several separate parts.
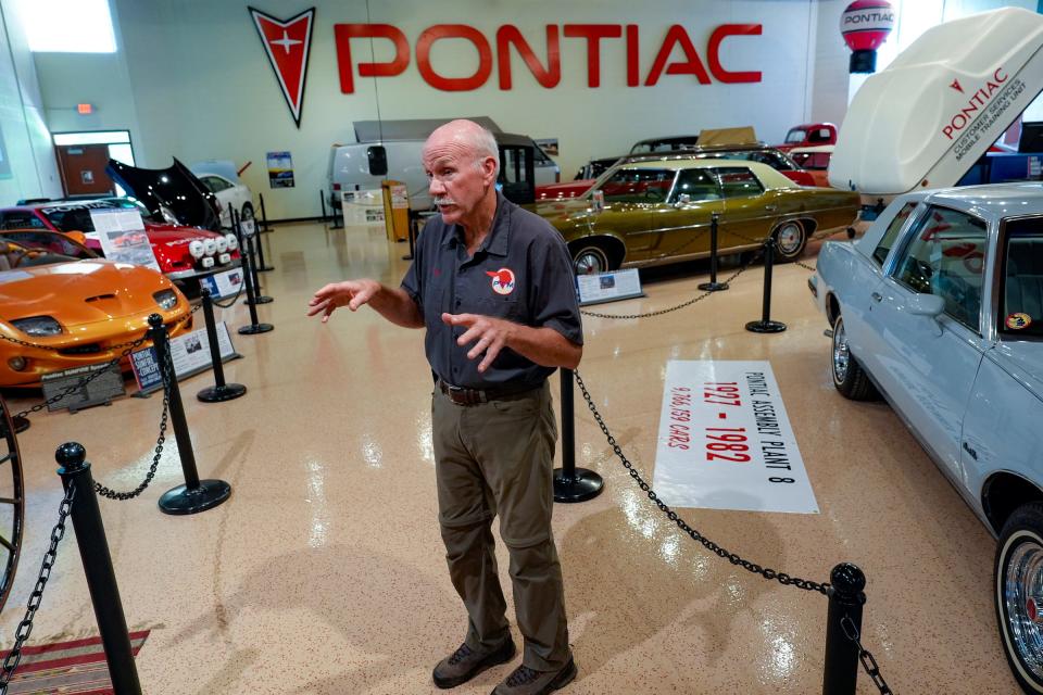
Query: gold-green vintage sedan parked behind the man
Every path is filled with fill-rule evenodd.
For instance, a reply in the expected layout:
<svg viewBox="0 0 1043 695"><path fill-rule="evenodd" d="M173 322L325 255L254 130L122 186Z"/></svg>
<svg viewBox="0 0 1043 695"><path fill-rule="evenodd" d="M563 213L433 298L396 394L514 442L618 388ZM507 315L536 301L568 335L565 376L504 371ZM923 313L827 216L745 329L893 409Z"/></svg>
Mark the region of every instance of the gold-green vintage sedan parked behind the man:
<svg viewBox="0 0 1043 695"><path fill-rule="evenodd" d="M758 248L793 261L810 235L851 226L858 194L804 188L758 162L668 157L620 164L582 198L537 206L565 237L577 274L709 255L718 216L720 253Z"/></svg>

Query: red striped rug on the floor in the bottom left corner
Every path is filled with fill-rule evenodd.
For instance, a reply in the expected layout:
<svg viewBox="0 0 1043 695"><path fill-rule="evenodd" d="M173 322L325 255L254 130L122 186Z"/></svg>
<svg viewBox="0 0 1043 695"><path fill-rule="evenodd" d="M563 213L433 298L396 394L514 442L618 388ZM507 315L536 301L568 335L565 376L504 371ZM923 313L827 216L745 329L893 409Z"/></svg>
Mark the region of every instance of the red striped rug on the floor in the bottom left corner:
<svg viewBox="0 0 1043 695"><path fill-rule="evenodd" d="M130 633L138 656L148 630ZM7 657L8 653L4 652ZM22 661L8 687L9 695L112 695L109 665L101 637L55 642L22 649Z"/></svg>

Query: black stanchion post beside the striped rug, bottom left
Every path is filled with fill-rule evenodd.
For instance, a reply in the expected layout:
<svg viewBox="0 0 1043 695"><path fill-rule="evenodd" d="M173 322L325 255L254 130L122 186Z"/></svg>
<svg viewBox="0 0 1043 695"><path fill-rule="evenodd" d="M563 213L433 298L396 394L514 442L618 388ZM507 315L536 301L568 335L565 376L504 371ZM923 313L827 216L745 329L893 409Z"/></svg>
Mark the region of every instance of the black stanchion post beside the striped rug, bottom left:
<svg viewBox="0 0 1043 695"><path fill-rule="evenodd" d="M61 476L65 490L68 490L70 485L76 485L70 516L76 530L76 544L84 563L84 574L87 577L87 590L95 607L101 644L105 649L112 692L115 695L141 695L138 670L134 664L134 649L127 632L127 619L123 615L120 587L116 585L116 573L112 569L112 556L105 541L105 527L98 508L87 452L76 442L68 442L58 448L54 458L61 466L58 475Z"/></svg>

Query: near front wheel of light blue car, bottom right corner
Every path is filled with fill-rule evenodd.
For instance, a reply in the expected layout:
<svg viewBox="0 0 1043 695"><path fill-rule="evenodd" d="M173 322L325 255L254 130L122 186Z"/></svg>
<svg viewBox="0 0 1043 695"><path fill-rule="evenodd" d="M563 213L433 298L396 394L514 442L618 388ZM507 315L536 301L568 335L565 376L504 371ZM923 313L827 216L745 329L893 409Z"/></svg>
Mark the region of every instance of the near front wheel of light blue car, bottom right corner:
<svg viewBox="0 0 1043 695"><path fill-rule="evenodd" d="M1003 525L995 584L1010 670L1026 693L1043 693L1043 504L1018 507Z"/></svg>

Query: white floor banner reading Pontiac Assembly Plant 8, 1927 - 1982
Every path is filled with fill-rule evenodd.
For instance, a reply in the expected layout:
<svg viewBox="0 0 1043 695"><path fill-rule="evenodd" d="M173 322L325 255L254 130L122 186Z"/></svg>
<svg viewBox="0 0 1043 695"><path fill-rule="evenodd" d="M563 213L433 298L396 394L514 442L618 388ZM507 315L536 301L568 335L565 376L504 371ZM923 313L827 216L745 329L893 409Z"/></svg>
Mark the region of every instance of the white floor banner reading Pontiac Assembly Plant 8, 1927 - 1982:
<svg viewBox="0 0 1043 695"><path fill-rule="evenodd" d="M671 506L818 514L767 362L667 363L653 483Z"/></svg>

